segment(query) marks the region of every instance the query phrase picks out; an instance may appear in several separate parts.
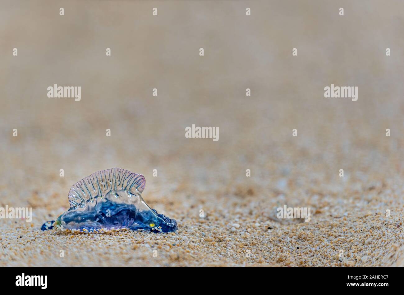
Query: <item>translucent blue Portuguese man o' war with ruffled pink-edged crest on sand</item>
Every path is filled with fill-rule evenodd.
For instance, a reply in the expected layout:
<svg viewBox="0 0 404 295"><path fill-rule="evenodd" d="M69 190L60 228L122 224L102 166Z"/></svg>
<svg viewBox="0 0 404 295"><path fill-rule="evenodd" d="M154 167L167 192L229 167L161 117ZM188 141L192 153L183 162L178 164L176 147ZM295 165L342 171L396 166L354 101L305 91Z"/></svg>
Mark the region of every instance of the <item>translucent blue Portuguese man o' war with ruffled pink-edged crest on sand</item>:
<svg viewBox="0 0 404 295"><path fill-rule="evenodd" d="M41 229L176 231L174 219L158 214L143 200L145 183L143 175L121 168L95 172L72 186L69 210Z"/></svg>

